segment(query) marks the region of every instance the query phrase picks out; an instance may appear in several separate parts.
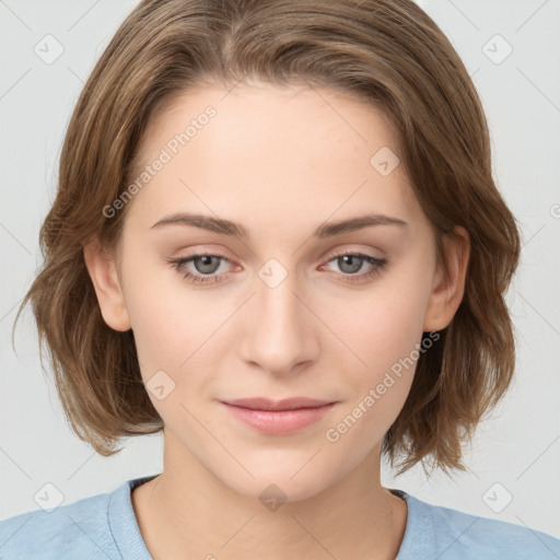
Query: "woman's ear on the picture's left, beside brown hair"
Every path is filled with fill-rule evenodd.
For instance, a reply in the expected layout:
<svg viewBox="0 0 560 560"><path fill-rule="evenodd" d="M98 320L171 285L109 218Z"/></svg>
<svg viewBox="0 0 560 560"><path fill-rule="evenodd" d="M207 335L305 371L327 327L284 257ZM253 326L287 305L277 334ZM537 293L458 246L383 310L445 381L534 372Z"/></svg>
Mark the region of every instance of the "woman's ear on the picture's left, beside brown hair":
<svg viewBox="0 0 560 560"><path fill-rule="evenodd" d="M98 241L85 244L83 256L105 323L115 330L129 330L130 318L120 288L115 257L108 255Z"/></svg>

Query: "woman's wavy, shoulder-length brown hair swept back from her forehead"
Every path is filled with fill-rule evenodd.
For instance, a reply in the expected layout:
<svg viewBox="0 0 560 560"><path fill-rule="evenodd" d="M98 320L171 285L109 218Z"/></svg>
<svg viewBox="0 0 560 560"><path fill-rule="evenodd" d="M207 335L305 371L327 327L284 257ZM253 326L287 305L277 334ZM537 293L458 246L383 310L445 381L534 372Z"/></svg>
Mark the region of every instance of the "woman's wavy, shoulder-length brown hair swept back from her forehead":
<svg viewBox="0 0 560 560"><path fill-rule="evenodd" d="M101 314L85 267L91 240L112 250L148 122L198 86L245 79L346 92L395 127L399 159L442 242L463 226L470 255L463 300L422 352L408 398L382 442L398 475L431 459L466 470L462 443L513 377L504 302L520 257L517 223L492 178L488 125L475 85L435 22L411 0L143 0L88 79L68 124L56 199L42 225L44 264L31 301L73 432L118 453L120 438L164 423L142 382L131 329ZM15 322L18 322L18 317ZM424 332L422 342L432 334ZM42 355L43 363L43 355ZM448 472L447 472L448 474Z"/></svg>

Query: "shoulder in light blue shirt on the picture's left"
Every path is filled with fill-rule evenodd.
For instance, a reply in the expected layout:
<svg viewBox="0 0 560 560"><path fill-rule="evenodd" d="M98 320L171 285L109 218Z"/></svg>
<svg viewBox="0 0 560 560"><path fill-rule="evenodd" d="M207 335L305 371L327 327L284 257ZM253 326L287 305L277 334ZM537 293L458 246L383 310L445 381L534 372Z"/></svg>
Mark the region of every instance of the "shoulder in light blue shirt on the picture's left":
<svg viewBox="0 0 560 560"><path fill-rule="evenodd" d="M120 558L107 522L114 492L0 521L0 558ZM103 555L105 552L106 556Z"/></svg>

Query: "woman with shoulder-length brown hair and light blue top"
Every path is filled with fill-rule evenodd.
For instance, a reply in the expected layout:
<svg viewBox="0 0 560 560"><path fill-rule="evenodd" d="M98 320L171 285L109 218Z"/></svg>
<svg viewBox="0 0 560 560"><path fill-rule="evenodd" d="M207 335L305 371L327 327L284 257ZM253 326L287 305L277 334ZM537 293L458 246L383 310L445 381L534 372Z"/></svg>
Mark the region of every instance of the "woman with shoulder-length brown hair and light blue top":
<svg viewBox="0 0 560 560"><path fill-rule="evenodd" d="M1 522L3 557L560 556L380 481L464 470L514 371L515 219L413 2L144 0L59 175L22 306L75 433L163 430L164 469Z"/></svg>

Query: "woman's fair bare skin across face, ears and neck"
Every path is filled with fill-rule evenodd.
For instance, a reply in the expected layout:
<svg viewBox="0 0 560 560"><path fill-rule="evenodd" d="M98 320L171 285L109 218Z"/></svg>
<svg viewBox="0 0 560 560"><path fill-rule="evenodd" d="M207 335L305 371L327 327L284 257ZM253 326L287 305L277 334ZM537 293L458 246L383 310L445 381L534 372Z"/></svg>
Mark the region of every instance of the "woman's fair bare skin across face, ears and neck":
<svg viewBox="0 0 560 560"><path fill-rule="evenodd" d="M208 105L217 116L128 202L116 253L94 242L84 248L105 322L133 330L144 383L162 370L175 383L163 399L149 390L165 429L162 474L132 492L147 547L156 560L393 559L407 506L381 485L381 442L415 369L338 441L325 433L418 348L422 331L450 324L468 235L445 237L446 277L404 166L383 176L370 164L382 147L398 155L389 121L331 90L190 91L150 122L144 164ZM151 228L178 211L233 220L250 236ZM325 222L364 213L407 225L312 236ZM167 262L205 249L225 259L191 260L180 271ZM345 264L339 250L387 265L364 278L375 267ZM259 277L271 258L287 273L273 288ZM190 283L187 269L222 281ZM268 435L218 402L256 396L337 404L296 433ZM285 497L276 511L259 500L270 483Z"/></svg>

